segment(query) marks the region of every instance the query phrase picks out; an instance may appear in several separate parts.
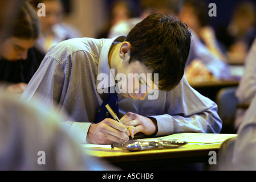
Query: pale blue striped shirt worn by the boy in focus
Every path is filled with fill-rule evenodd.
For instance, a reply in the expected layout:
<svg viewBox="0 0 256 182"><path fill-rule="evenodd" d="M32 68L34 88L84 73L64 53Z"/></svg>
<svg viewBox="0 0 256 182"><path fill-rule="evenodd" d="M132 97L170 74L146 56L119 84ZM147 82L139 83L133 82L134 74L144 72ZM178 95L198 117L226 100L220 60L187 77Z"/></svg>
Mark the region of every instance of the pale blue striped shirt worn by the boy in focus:
<svg viewBox="0 0 256 182"><path fill-rule="evenodd" d="M79 142L86 143L88 129L105 93L97 92L97 75L105 73L113 80L108 65L108 51L113 39L77 38L52 47L29 82L22 99L38 100L43 105L58 105L70 115L66 126ZM110 81L109 81L110 84ZM217 105L194 90L183 77L170 92L159 90L156 100L132 100L121 94L119 118L128 111L154 117L157 136L177 132L219 133L222 121Z"/></svg>

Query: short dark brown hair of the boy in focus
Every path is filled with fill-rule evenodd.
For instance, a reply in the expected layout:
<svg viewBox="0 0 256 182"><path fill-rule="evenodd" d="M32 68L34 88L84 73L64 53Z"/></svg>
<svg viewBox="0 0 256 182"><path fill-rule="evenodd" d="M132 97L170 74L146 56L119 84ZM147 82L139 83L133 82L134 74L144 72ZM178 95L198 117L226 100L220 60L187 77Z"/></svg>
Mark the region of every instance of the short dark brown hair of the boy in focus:
<svg viewBox="0 0 256 182"><path fill-rule="evenodd" d="M130 62L139 60L159 74L159 89L172 90L184 75L190 50L191 32L186 24L170 15L147 16L127 35Z"/></svg>

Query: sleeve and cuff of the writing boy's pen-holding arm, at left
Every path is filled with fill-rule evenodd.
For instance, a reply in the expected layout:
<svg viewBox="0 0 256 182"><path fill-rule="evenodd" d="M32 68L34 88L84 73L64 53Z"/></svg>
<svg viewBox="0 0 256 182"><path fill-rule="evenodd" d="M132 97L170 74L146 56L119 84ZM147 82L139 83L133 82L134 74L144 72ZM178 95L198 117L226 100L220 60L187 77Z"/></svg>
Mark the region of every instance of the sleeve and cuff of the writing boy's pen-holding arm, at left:
<svg viewBox="0 0 256 182"><path fill-rule="evenodd" d="M68 79L69 76L62 64L50 56L45 57L21 99L26 102L38 101L42 105L55 108L60 115L67 115L65 108L62 107L62 98L66 96ZM91 123L66 121L63 125L64 129L73 135L79 143L86 143Z"/></svg>

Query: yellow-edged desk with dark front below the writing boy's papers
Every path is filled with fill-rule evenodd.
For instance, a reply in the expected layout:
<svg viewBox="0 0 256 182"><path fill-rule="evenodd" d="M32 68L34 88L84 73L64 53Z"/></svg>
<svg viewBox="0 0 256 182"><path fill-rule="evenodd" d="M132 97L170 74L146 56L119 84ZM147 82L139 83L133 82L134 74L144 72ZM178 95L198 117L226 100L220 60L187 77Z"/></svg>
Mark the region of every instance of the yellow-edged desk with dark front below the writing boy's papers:
<svg viewBox="0 0 256 182"><path fill-rule="evenodd" d="M121 169L183 169L186 164L206 163L222 142L213 144L186 144L178 148L148 151L122 151L118 148L87 148L88 154L107 160ZM182 167L181 167L182 166ZM180 167L180 168L179 168Z"/></svg>

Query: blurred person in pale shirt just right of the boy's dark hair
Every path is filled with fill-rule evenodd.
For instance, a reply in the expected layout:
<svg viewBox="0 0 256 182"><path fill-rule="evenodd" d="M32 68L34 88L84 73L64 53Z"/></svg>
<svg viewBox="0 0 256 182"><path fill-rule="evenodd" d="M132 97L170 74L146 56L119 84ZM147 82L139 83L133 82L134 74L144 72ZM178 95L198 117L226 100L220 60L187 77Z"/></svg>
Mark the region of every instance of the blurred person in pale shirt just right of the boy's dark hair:
<svg viewBox="0 0 256 182"><path fill-rule="evenodd" d="M230 77L225 56L217 46L213 28L206 26L208 11L202 1L185 0L178 17L192 30L192 44L185 71L190 83Z"/></svg>

